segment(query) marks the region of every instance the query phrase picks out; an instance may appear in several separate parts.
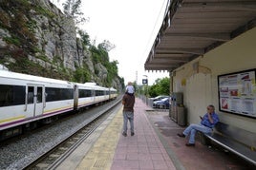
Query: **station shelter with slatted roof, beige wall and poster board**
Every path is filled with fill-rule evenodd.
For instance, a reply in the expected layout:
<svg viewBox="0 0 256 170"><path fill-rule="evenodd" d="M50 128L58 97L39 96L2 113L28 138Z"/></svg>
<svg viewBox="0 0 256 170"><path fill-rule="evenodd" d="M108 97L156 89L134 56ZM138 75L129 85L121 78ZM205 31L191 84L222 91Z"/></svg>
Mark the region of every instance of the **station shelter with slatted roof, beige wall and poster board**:
<svg viewBox="0 0 256 170"><path fill-rule="evenodd" d="M256 133L256 1L169 1L144 67L170 72L187 122L214 104L223 123Z"/></svg>

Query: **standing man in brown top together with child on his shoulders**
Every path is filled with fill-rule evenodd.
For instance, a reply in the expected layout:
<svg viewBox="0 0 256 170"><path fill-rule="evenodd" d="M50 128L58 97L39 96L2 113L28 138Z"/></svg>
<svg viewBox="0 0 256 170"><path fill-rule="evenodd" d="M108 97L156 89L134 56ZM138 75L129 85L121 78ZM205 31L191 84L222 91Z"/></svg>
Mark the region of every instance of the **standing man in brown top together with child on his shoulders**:
<svg viewBox="0 0 256 170"><path fill-rule="evenodd" d="M135 104L135 95L134 95L134 87L132 83L128 83L128 88L126 89L126 93L122 97L123 104L123 131L122 135L127 137L127 123L130 122L131 126L131 136L135 135L134 131L134 104Z"/></svg>

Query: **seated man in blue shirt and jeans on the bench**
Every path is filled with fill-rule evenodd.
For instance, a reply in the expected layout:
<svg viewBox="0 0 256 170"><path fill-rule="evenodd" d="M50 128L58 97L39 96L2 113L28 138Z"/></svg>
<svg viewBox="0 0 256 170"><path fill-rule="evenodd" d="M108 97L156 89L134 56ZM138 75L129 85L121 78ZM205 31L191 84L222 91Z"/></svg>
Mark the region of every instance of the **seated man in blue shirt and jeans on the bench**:
<svg viewBox="0 0 256 170"><path fill-rule="evenodd" d="M195 135L197 131L203 132L203 133L211 133L212 128L216 123L219 122L219 116L217 113L214 111L214 106L213 105L208 105L207 106L207 113L201 118L201 123L200 124L195 124L192 123L186 129L183 131L181 134L177 134L179 137L184 138L188 135L189 137L189 142L186 143L186 146L195 146Z"/></svg>

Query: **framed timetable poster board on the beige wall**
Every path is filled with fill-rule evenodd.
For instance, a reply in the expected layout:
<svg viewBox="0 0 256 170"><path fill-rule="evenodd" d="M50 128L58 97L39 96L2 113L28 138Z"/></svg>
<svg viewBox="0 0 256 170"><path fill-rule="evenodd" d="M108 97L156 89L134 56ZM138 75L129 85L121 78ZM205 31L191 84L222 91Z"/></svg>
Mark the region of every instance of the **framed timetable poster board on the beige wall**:
<svg viewBox="0 0 256 170"><path fill-rule="evenodd" d="M256 118L255 69L218 76L220 110Z"/></svg>

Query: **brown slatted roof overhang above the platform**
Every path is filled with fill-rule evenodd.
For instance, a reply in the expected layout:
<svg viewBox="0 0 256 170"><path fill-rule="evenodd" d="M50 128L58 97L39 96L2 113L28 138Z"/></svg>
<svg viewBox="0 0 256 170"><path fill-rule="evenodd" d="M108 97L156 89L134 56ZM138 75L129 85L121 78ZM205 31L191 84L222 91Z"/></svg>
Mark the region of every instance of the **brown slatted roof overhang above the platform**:
<svg viewBox="0 0 256 170"><path fill-rule="evenodd" d="M255 0L172 0L144 64L172 71L256 26Z"/></svg>

